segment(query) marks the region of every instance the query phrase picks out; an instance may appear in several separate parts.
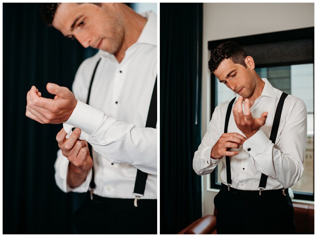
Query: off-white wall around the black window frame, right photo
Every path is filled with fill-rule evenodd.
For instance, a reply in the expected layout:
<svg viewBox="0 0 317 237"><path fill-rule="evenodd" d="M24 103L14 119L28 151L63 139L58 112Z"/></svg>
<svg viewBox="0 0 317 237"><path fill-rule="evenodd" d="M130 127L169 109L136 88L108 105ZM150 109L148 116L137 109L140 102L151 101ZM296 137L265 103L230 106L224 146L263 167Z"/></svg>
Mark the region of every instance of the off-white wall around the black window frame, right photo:
<svg viewBox="0 0 317 237"><path fill-rule="evenodd" d="M208 41L314 26L314 3L204 3L202 135L210 121L210 52ZM213 214L217 191L207 190L203 176L204 215Z"/></svg>

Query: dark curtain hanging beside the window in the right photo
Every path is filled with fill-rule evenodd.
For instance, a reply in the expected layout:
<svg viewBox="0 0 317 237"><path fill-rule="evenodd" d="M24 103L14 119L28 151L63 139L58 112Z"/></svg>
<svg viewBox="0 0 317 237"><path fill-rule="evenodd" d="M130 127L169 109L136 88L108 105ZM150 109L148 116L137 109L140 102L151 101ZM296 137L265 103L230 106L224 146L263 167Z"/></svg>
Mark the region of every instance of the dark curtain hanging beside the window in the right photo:
<svg viewBox="0 0 317 237"><path fill-rule="evenodd" d="M160 234L202 215L192 168L201 142L202 14L202 3L160 4Z"/></svg>

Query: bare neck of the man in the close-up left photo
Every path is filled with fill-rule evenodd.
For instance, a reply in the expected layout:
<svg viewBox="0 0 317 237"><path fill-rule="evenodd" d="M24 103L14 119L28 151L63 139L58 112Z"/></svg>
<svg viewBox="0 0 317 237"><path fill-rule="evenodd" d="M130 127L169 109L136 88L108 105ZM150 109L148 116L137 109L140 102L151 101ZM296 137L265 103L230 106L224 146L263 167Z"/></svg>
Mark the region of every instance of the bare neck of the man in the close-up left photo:
<svg viewBox="0 0 317 237"><path fill-rule="evenodd" d="M122 10L124 13L125 21L124 38L121 48L118 50L118 52L114 54L119 63L123 60L126 54L126 50L132 44L137 42L147 21L146 18L140 16L128 6L125 6Z"/></svg>

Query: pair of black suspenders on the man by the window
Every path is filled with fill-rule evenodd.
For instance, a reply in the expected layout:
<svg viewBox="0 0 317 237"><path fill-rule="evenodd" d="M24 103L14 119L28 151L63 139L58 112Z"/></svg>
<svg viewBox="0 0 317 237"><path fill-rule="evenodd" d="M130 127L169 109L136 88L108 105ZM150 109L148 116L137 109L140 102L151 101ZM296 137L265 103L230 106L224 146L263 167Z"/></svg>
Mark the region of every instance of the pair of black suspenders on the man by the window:
<svg viewBox="0 0 317 237"><path fill-rule="evenodd" d="M275 115L274 115L274 120L273 120L273 125L272 125L272 130L271 130L271 135L270 135L270 140L272 141L273 144L275 144L276 136L277 136L277 131L280 125L280 120L281 120L281 114L282 114L282 109L284 105L285 98L288 96L285 92L282 93L280 100L277 104ZM236 97L233 98L227 109L227 114L226 114L226 119L225 119L225 124L224 124L224 133L228 133L228 124L229 124L229 118L231 114L231 109L233 102L235 101ZM231 185L231 172L230 172L230 157L226 156L226 171L227 171L227 183L228 183L228 188ZM265 174L261 174L261 179L260 179L260 195L261 195L261 190L265 189L266 187L266 182L268 180L268 176Z"/></svg>

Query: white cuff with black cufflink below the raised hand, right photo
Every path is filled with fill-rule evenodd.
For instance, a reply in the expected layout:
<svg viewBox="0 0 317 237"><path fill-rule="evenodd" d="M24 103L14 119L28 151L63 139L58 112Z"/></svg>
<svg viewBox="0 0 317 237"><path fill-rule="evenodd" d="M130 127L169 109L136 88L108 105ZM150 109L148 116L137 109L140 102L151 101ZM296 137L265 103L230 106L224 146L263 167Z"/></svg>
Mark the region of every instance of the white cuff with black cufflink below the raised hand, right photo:
<svg viewBox="0 0 317 237"><path fill-rule="evenodd" d="M253 136L243 143L243 149L253 158L262 154L272 142L265 133L259 129Z"/></svg>

